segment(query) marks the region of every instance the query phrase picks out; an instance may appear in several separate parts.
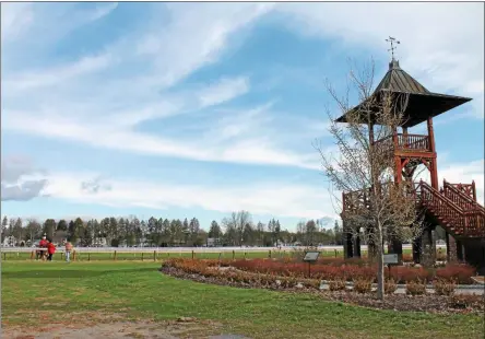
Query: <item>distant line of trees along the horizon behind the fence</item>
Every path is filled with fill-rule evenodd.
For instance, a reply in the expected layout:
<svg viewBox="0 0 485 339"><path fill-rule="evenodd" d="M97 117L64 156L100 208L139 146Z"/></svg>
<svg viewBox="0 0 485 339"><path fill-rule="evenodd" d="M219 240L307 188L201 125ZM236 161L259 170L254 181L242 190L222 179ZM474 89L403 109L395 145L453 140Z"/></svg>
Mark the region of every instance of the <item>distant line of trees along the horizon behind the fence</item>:
<svg viewBox="0 0 485 339"><path fill-rule="evenodd" d="M52 238L62 235L78 246L96 246L106 239L108 246L277 246L300 244L304 246L341 245L342 229L336 223L333 229L324 229L317 220L300 221L296 232L283 230L280 221L271 219L268 223L252 222L248 211L233 212L221 222L213 220L209 231L201 227L197 218L164 219L152 217L140 220L137 217L104 218L102 220L55 220L36 219L23 221L21 218L3 217L1 241L13 236L17 244L22 241L33 243L43 235ZM209 242L209 238L212 241Z"/></svg>

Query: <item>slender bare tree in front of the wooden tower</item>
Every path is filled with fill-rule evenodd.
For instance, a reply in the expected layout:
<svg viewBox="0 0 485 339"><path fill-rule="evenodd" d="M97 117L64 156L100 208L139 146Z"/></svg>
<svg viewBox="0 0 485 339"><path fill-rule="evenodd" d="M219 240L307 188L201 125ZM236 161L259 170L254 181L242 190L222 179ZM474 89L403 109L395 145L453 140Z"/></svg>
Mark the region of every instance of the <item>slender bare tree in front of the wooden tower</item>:
<svg viewBox="0 0 485 339"><path fill-rule="evenodd" d="M352 68L343 97L328 83L328 91L345 116L340 124L331 119L330 133L339 150L327 153L319 143L324 175L342 198L344 232L365 236L369 248L375 248L378 262L378 297L383 299L383 241L394 238L412 241L421 235L422 215L416 212L414 186L395 173L393 138L404 122L409 95L389 92L372 93L374 62L356 73ZM350 105L357 92L359 105ZM377 141L375 141L377 140ZM389 142L390 141L390 142ZM372 255L372 254L369 254Z"/></svg>

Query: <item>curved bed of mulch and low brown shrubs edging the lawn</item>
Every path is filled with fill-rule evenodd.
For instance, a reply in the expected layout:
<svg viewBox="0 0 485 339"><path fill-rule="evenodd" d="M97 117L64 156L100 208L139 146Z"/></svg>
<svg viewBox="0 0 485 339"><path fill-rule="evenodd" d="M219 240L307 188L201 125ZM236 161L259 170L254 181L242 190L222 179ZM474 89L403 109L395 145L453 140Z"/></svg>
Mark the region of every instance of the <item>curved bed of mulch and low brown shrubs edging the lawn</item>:
<svg viewBox="0 0 485 339"><path fill-rule="evenodd" d="M252 260L246 260L252 261ZM320 290L320 279L308 279L304 274L280 276L268 272L252 272L241 270L247 268L241 262L217 260L191 260L191 259L170 259L164 261L161 271L181 279L189 279L203 283L218 285L229 285L246 289L270 289L286 291L291 293L312 293L318 297L326 300L340 301L344 303L394 311L422 311L431 313L483 313L485 312L485 300L483 295L461 295L454 294L454 282L447 281L445 278L434 281L437 293L426 293L426 284L419 280L411 279L406 282L406 294L394 294L397 283L392 280L387 281L387 296L385 301L376 297L371 290L371 280L363 278L360 274L354 274L354 287L350 291L344 280L330 280L328 283L330 290ZM236 264L238 268L232 266ZM296 262L294 262L296 264ZM287 265L291 265L288 262ZM348 265L350 266L350 265ZM289 266L294 268L293 266ZM294 271L292 268L282 273ZM348 269L348 267L346 267ZM355 272L350 270L351 272ZM419 270L421 271L421 270ZM413 276L415 277L415 276ZM312 277L314 278L314 277ZM374 277L372 277L374 279Z"/></svg>

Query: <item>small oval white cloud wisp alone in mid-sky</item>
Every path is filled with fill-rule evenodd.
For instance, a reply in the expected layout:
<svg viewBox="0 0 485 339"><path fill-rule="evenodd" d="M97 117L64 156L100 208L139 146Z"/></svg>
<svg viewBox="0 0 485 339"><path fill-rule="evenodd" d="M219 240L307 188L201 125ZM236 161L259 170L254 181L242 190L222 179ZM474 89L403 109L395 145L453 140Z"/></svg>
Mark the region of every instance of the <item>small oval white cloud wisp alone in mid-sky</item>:
<svg viewBox="0 0 485 339"><path fill-rule="evenodd" d="M199 93L202 106L213 106L230 101L249 91L249 80L244 77L222 79Z"/></svg>

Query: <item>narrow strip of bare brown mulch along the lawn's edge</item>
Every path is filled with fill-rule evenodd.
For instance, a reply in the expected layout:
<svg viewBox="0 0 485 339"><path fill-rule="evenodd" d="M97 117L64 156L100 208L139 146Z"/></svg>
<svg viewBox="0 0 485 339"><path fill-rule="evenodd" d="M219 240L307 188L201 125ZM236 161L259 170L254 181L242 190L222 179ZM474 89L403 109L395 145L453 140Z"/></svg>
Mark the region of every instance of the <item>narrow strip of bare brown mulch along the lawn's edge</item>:
<svg viewBox="0 0 485 339"><path fill-rule="evenodd" d="M329 301L338 301L352 305L358 305L364 307L379 308L379 309L392 309L392 311L414 311L414 312L429 312L440 314L484 314L485 312L485 296L475 296L473 305L459 306L450 303L451 297L446 295L406 295L406 294L389 294L386 295L383 301L377 299L375 293L356 293L350 291L318 291L308 288L283 288L281 285L253 285L250 283L228 281L226 279L220 279L214 277L204 277L202 274L187 273L181 269L174 267L163 266L161 272L186 280L192 280L202 283L226 285L242 289L269 289L274 291L284 291L289 293L311 293L316 296L322 297Z"/></svg>

